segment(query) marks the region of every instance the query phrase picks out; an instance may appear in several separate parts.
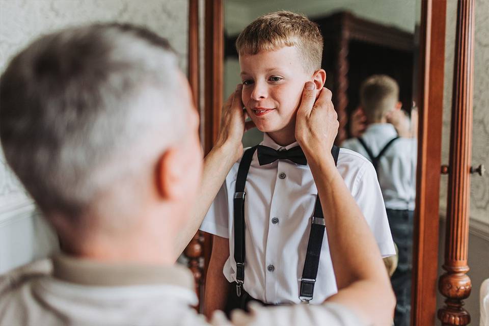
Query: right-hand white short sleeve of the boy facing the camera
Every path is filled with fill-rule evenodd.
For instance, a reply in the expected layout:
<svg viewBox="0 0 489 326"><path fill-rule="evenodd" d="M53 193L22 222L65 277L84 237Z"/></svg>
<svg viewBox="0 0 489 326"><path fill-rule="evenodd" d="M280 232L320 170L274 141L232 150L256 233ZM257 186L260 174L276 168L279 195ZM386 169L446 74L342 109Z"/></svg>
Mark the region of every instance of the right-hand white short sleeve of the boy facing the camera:
<svg viewBox="0 0 489 326"><path fill-rule="evenodd" d="M394 256L396 250L377 174L369 161L365 161L362 170L363 173L359 173L357 176L356 186L352 195L362 210L365 220L377 241L382 258Z"/></svg>

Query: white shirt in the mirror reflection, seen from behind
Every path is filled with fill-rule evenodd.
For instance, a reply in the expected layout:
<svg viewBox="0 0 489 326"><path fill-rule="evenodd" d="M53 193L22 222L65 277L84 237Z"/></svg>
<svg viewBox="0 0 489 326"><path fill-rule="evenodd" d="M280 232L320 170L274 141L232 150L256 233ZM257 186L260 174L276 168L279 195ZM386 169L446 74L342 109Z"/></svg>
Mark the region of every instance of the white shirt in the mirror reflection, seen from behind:
<svg viewBox="0 0 489 326"><path fill-rule="evenodd" d="M371 124L362 135L362 139L373 155L378 155L394 137L397 137L397 132L390 123ZM344 141L341 147L356 151L370 159L367 151L356 138ZM387 208L414 210L417 153L417 139L400 138L394 141L379 160L378 183L381 185Z"/></svg>

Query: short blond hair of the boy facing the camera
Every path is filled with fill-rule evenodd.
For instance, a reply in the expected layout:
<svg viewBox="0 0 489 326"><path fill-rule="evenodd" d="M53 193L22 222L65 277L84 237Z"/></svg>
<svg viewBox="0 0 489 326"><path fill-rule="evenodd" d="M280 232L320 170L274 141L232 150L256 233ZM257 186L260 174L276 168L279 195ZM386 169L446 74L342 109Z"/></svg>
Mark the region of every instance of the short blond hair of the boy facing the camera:
<svg viewBox="0 0 489 326"><path fill-rule="evenodd" d="M277 11L255 19L239 34L236 50L240 56L295 46L307 72L321 68L323 39L315 22L290 11Z"/></svg>

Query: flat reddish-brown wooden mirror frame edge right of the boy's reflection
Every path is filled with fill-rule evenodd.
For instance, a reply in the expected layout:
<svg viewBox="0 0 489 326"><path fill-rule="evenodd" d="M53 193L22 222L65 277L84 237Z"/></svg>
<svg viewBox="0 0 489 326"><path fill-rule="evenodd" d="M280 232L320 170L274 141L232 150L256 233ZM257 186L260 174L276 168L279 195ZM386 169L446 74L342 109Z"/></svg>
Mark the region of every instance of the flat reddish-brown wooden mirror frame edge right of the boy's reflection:
<svg viewBox="0 0 489 326"><path fill-rule="evenodd" d="M412 325L434 325L437 307L439 197L446 1L423 0L419 57L419 129L413 239Z"/></svg>

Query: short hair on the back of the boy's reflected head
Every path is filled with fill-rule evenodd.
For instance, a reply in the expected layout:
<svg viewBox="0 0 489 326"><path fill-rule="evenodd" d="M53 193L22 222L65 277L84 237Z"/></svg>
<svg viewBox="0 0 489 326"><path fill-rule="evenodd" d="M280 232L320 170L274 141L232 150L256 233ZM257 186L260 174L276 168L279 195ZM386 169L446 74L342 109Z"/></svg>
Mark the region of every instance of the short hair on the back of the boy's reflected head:
<svg viewBox="0 0 489 326"><path fill-rule="evenodd" d="M373 75L360 86L360 104L369 121L381 120L399 101L399 86L387 75Z"/></svg>

